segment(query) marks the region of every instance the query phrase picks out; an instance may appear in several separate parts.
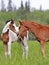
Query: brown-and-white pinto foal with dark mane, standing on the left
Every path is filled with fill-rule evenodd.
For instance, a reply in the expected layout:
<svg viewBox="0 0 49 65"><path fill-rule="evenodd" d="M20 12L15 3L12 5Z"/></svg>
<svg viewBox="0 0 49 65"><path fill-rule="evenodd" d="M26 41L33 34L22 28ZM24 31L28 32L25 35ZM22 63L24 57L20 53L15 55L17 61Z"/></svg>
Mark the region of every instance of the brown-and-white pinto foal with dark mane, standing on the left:
<svg viewBox="0 0 49 65"><path fill-rule="evenodd" d="M9 20L6 22L6 25L3 28L2 35L1 35L2 41L4 43L4 50L5 50L6 57L7 55L11 57L11 43L19 40L17 36L18 31L19 31L19 27L16 27L13 20ZM27 58L28 56L28 45L27 45L28 32L25 32L25 35L23 35L21 38L22 40L20 40L19 43L21 44L22 49L23 49L23 56L26 54L26 58Z"/></svg>

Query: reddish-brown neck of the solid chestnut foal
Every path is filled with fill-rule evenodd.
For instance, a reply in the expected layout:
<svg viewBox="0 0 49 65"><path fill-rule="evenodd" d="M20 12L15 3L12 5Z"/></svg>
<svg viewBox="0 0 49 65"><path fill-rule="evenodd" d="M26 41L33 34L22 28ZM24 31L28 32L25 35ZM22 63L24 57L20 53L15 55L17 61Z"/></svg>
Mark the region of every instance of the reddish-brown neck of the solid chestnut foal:
<svg viewBox="0 0 49 65"><path fill-rule="evenodd" d="M26 28L28 28L28 30L29 30L30 32L34 33L34 34L37 32L38 28L41 27L41 26L39 26L39 24L36 24L36 23L34 23L34 22L25 22L25 23L24 23L24 26L25 26Z"/></svg>

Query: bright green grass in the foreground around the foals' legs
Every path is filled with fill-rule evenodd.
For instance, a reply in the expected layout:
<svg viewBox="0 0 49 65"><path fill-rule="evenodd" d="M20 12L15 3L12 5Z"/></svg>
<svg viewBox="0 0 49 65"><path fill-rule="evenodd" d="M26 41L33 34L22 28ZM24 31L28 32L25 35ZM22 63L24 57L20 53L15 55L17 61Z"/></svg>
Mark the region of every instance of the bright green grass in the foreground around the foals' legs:
<svg viewBox="0 0 49 65"><path fill-rule="evenodd" d="M46 58L43 59L40 51L40 45L37 41L29 41L28 59L22 58L22 49L19 43L12 44L12 58L7 59L4 56L4 47L0 41L0 65L49 65L49 42L45 44Z"/></svg>

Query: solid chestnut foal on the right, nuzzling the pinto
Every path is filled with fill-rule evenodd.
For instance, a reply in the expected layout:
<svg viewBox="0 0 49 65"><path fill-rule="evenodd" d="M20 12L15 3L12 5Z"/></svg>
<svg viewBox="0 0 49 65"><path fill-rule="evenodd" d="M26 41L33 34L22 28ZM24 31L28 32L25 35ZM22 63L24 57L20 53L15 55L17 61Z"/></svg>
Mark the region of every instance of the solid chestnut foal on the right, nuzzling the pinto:
<svg viewBox="0 0 49 65"><path fill-rule="evenodd" d="M40 42L41 52L43 57L45 57L45 42L49 41L49 26L43 26L35 22L21 20L19 36L21 36L21 34L23 34L23 32L27 30L34 34L37 41Z"/></svg>

